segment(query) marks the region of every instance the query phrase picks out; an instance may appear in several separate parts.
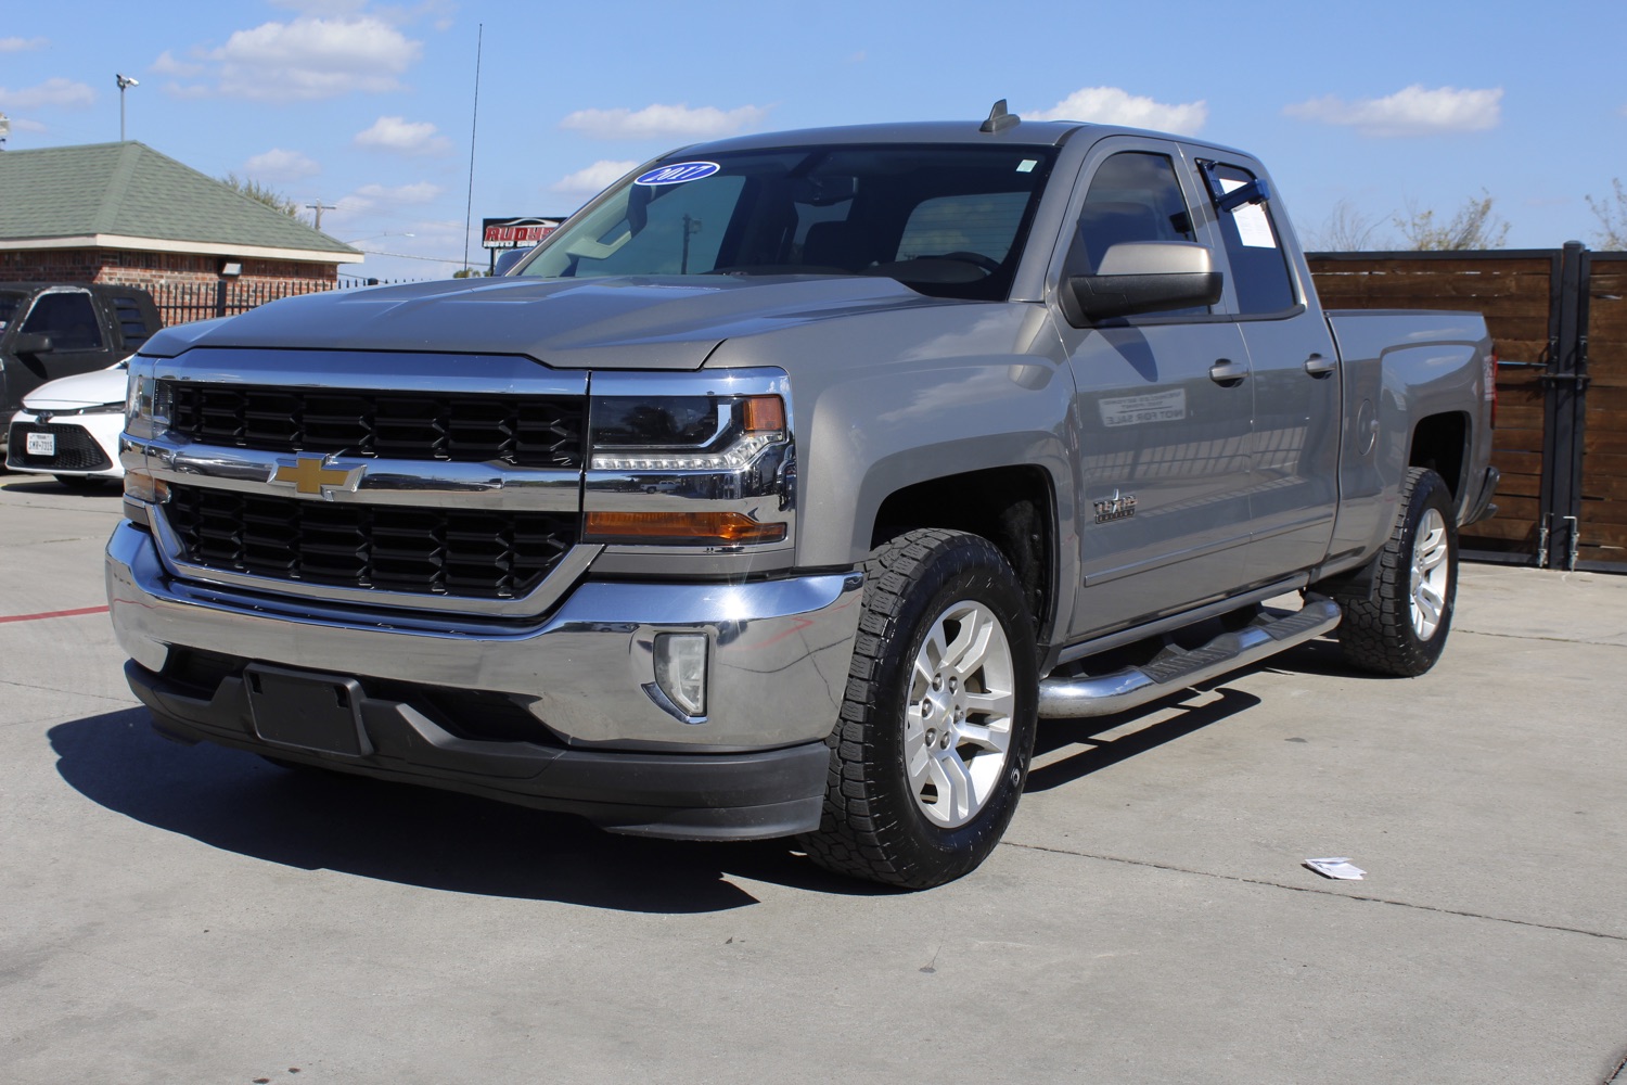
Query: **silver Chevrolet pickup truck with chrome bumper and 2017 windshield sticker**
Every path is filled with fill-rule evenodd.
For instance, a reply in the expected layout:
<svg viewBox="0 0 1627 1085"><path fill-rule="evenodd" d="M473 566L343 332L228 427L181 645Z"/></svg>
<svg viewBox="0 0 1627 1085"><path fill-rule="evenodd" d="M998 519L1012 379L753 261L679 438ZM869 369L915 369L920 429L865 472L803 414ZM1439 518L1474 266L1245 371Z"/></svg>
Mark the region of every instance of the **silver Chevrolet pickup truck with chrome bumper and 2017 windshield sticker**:
<svg viewBox="0 0 1627 1085"><path fill-rule="evenodd" d="M509 275L153 337L107 594L168 737L929 887L1041 717L1334 630L1427 670L1490 366L1474 314L1324 312L1240 151L732 138Z"/></svg>

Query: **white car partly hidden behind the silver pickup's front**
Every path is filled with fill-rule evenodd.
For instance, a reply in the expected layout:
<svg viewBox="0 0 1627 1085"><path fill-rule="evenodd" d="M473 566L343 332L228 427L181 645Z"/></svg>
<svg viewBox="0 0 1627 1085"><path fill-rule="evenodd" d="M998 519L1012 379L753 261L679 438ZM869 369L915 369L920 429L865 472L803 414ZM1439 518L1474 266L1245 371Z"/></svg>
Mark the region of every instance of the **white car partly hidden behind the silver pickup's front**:
<svg viewBox="0 0 1627 1085"><path fill-rule="evenodd" d="M65 486L124 478L125 363L49 381L23 397L7 433L7 470L55 475Z"/></svg>

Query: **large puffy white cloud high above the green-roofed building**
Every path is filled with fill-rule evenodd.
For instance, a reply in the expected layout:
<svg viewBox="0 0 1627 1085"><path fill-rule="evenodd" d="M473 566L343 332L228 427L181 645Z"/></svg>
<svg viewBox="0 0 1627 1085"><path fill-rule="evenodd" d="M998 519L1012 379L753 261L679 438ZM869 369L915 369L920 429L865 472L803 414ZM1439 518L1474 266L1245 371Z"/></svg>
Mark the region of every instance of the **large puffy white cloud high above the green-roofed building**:
<svg viewBox="0 0 1627 1085"><path fill-rule="evenodd" d="M314 101L355 91L402 89L400 76L423 54L412 41L374 15L262 23L236 31L220 49L200 57L213 65L213 86L172 88L182 98L225 94L259 101ZM164 54L168 63L184 67ZM163 62L164 57L159 57Z"/></svg>

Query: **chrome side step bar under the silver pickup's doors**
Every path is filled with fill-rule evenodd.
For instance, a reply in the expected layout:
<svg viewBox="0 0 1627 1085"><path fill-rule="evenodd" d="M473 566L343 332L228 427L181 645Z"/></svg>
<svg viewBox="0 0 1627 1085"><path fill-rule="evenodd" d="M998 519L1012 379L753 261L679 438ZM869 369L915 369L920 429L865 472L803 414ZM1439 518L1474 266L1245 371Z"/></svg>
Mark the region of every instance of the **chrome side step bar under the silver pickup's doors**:
<svg viewBox="0 0 1627 1085"><path fill-rule="evenodd" d="M1339 604L1331 599L1308 599L1302 610L1284 618L1224 633L1193 651L1165 649L1141 667L1093 678L1046 678L1040 683L1040 716L1082 719L1123 712L1318 638L1339 625L1341 617Z"/></svg>

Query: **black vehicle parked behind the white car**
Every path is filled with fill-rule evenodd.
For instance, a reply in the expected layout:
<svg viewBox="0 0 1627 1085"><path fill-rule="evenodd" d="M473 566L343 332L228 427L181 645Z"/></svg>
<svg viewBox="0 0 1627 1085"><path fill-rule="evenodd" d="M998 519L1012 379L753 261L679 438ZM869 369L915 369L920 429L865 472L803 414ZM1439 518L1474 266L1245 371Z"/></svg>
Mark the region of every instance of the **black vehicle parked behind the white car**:
<svg viewBox="0 0 1627 1085"><path fill-rule="evenodd" d="M138 286L0 283L0 429L46 381L106 369L161 327Z"/></svg>

